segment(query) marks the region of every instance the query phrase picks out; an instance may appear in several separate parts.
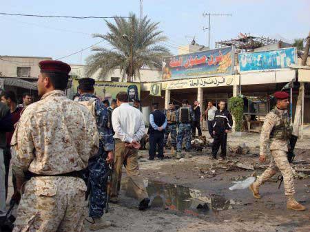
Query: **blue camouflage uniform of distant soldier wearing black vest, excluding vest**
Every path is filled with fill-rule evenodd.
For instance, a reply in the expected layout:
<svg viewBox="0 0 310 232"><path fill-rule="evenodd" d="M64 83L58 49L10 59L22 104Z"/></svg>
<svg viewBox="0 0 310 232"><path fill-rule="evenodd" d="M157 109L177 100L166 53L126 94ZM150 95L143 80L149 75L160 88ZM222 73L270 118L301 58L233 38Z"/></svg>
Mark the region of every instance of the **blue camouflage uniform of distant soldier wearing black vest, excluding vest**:
<svg viewBox="0 0 310 232"><path fill-rule="evenodd" d="M183 106L184 107L184 106ZM194 114L192 109L189 109L189 119L194 120ZM192 140L192 125L189 123L181 123L180 120L180 109L176 111L176 121L178 123L178 136L176 136L176 149L178 152L182 151L183 138L185 138L185 148L191 149L191 140Z"/></svg>

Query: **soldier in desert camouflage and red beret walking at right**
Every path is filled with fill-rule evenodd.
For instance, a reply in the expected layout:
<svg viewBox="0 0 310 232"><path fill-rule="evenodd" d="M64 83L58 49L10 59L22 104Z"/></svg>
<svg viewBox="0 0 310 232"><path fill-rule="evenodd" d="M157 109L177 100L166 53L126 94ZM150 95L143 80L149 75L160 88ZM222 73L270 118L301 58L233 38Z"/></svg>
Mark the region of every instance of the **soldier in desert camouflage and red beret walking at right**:
<svg viewBox="0 0 310 232"><path fill-rule="evenodd" d="M262 132L260 134L260 162L265 162L267 156L267 145L270 140L271 162L269 167L262 175L251 184L250 189L254 198L260 199L258 191L260 185L274 176L279 170L284 178L285 195L287 196L287 209L304 211L306 208L298 203L295 198L295 189L293 181L293 170L287 159L289 151L289 138L291 136L291 127L289 125L289 116L287 107L289 105L289 94L286 92L276 92L276 108L272 109L265 118Z"/></svg>

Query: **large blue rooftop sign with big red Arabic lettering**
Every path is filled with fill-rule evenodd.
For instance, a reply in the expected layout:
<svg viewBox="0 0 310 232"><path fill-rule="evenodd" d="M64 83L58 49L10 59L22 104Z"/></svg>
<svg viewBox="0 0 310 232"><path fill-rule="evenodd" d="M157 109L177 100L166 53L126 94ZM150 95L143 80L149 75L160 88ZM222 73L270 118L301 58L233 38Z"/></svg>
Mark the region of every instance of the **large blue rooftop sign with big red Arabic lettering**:
<svg viewBox="0 0 310 232"><path fill-rule="evenodd" d="M163 80L231 75L233 47L194 52L163 58Z"/></svg>

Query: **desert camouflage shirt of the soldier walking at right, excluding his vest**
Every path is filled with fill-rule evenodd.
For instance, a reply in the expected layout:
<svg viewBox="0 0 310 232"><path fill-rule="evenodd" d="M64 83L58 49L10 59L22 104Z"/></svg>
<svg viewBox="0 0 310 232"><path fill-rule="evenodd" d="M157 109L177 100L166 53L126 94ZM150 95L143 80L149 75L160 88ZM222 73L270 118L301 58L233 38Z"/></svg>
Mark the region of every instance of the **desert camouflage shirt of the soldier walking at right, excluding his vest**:
<svg viewBox="0 0 310 232"><path fill-rule="evenodd" d="M277 109L278 115L285 117L287 110ZM270 150L288 150L288 140L282 140L278 138L270 138L273 127L280 125L281 120L279 116L273 112L269 112L265 118L264 125L262 125L262 131L260 133L260 156L267 156L267 147L270 144Z"/></svg>

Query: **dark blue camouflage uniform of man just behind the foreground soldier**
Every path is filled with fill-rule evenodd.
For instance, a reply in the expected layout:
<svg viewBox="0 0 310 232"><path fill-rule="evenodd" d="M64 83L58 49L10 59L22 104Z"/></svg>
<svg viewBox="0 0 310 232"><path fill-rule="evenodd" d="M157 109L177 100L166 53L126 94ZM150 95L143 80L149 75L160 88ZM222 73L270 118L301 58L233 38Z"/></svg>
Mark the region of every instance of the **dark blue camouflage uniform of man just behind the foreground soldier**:
<svg viewBox="0 0 310 232"><path fill-rule="evenodd" d="M109 117L107 108L103 103L92 94L79 96L78 101L95 101L96 124L99 131L99 151L96 156L90 158L89 183L90 184L90 217L101 218L106 204L107 178L103 178L109 170L106 162L107 151L114 149L114 139L112 129L108 125Z"/></svg>

